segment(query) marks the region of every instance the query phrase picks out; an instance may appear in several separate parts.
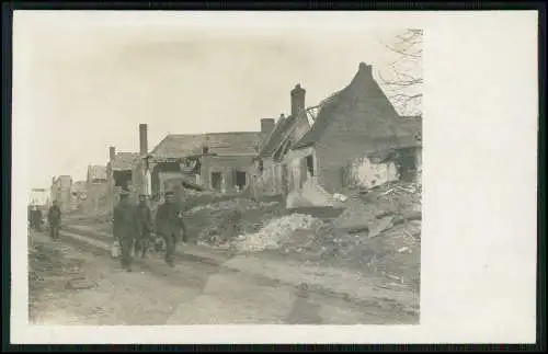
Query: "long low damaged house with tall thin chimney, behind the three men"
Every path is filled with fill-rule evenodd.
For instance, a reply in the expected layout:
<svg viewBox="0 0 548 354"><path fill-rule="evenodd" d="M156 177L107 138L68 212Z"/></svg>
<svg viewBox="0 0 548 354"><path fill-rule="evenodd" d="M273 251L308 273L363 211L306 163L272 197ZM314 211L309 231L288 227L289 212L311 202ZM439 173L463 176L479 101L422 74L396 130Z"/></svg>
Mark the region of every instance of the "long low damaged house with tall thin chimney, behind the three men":
<svg viewBox="0 0 548 354"><path fill-rule="evenodd" d="M159 199L164 191L185 185L220 193L238 193L249 185L249 165L261 142L260 132L168 135L146 153L146 125L141 126L141 158L134 163L139 193Z"/></svg>

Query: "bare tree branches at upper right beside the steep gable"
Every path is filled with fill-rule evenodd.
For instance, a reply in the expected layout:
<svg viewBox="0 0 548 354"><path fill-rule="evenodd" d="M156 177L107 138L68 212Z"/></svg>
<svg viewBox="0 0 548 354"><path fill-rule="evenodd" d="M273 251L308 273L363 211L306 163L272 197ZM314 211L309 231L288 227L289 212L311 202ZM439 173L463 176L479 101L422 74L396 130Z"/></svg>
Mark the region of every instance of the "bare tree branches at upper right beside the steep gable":
<svg viewBox="0 0 548 354"><path fill-rule="evenodd" d="M390 62L390 77L379 78L395 106L404 115L422 112L423 31L406 30L393 43L385 45L397 59Z"/></svg>

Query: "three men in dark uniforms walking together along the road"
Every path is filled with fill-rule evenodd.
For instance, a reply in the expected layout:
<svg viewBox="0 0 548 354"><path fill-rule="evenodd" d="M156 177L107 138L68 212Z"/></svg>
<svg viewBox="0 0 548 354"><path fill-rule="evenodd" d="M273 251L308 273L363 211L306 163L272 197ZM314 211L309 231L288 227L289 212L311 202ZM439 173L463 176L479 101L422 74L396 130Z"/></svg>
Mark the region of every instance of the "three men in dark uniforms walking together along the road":
<svg viewBox="0 0 548 354"><path fill-rule="evenodd" d="M132 272L132 251L146 258L153 233L163 239L165 263L169 266L174 265L176 244L186 241L180 203L176 202L174 192L168 191L164 195L164 203L158 207L152 222L146 195L139 195L139 203L134 206L129 203L127 191L119 194L119 203L114 207L113 214L113 235L122 249L122 267L127 272Z"/></svg>

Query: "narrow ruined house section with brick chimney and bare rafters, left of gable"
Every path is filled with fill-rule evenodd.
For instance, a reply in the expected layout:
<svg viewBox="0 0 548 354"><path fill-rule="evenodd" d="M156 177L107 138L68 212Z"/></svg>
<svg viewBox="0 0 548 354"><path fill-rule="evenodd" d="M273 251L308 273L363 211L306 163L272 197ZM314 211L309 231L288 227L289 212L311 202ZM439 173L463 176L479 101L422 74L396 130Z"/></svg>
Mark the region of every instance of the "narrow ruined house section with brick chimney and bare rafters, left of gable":
<svg viewBox="0 0 548 354"><path fill-rule="evenodd" d="M310 128L305 109L305 95L306 90L297 84L290 91L292 114L288 117L282 114L275 124L273 124L274 119L271 119L271 124L274 126L267 129L270 134L265 134L251 168L252 189L255 196L275 196L288 193L288 184L284 180L284 176L287 175L287 171L284 169L287 165L283 163L283 159L290 147Z"/></svg>

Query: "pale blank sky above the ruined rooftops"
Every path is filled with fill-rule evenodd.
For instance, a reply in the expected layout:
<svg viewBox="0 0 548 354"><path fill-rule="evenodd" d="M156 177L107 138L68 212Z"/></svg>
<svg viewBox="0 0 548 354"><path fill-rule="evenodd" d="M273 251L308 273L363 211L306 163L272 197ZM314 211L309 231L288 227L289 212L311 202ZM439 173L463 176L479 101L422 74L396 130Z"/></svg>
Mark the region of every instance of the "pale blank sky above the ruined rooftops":
<svg viewBox="0 0 548 354"><path fill-rule="evenodd" d="M261 118L289 112L296 83L311 106L346 85L359 61L388 76L384 45L402 31L204 16L16 13L13 119L30 132L14 138L33 149L30 185L83 180L88 164L107 162L109 146L138 151L139 123L149 149L170 133L259 130Z"/></svg>

